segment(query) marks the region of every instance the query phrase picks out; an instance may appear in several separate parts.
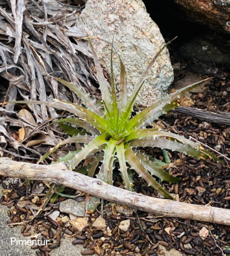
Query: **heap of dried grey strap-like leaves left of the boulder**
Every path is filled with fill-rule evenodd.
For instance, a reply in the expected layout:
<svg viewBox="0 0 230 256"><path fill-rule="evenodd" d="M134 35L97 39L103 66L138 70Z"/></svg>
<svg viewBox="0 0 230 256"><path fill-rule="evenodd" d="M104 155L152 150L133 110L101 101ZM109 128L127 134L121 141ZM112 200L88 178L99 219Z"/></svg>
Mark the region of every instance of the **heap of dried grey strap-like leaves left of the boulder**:
<svg viewBox="0 0 230 256"><path fill-rule="evenodd" d="M88 41L76 25L84 6L48 1L0 1L0 101L50 101L79 103L76 95L54 77L71 81L77 89L97 96ZM13 112L14 103L0 107L0 155L39 158L62 138L58 126L48 126L59 114L53 107L30 105ZM2 117L1 117L2 116ZM2 118L2 119L1 119ZM4 137L2 137L2 135ZM3 140L4 138L4 140ZM36 150L35 150L36 147ZM22 150L22 152L21 152ZM19 152L20 151L20 152ZM30 152L30 153L28 153Z"/></svg>

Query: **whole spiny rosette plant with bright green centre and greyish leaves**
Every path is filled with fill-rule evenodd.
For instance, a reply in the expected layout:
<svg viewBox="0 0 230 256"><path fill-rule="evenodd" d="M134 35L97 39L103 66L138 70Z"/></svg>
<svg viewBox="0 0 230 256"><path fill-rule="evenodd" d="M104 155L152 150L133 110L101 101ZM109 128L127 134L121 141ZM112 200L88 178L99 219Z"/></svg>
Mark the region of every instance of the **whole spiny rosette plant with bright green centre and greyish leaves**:
<svg viewBox="0 0 230 256"><path fill-rule="evenodd" d="M48 155L57 150L59 146L68 143L83 143L85 146L81 150L78 150L75 153L71 152L68 154L68 157L65 158L66 161L68 160L68 167L71 170L76 170L76 167L82 160L90 155L94 155L93 163L88 167L88 175L93 177L97 166L100 166L97 178L100 178L106 183L113 184L114 164L115 160L118 160L119 171L125 189L133 189L131 175L128 172L128 170L133 169L138 173L139 177L143 178L148 183L149 186L152 186L164 197L173 199L173 197L169 195L159 183L157 183L154 177L157 177L162 181L168 181L169 183L176 183L179 181L179 178L169 175L169 173L157 166L154 161L151 161L148 155L137 151L136 148L160 147L161 149L176 150L203 160L208 157L218 160L218 158L208 152L208 150L204 149L200 144L188 140L183 136L155 128L146 129L146 126L159 118L159 116L179 106L179 101L177 99L202 84L203 81L177 90L177 92L160 99L134 115L133 107L137 95L142 89L143 83L148 76L148 72L153 66L154 61L156 61L156 58L169 42L160 49L156 56L154 56L134 87L133 92L128 95L127 73L125 72L125 66L119 55L119 91L116 89L113 72L114 45L111 47L111 85L109 86L102 67L100 66L97 53L94 50L90 39L88 41L94 58L99 89L102 95L102 104L97 104L96 100L91 98L90 95L85 93L79 86L68 83L61 78L56 78L56 80L67 86L72 92L76 93L77 97L82 101L82 106L76 103L61 101L59 99L54 99L54 101L51 102L18 101L18 103L44 104L56 109L67 110L76 115L76 117L61 119L59 120L59 123L74 124L85 130L85 135L77 134L71 136L67 140L61 141L53 149L50 149L40 161L47 158Z"/></svg>

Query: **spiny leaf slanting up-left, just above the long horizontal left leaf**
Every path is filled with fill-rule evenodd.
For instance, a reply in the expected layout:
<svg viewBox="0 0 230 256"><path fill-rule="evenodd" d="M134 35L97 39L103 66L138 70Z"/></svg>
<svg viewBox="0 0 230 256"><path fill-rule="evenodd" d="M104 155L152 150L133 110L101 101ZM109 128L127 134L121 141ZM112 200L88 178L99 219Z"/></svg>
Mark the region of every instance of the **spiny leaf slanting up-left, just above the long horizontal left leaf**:
<svg viewBox="0 0 230 256"><path fill-rule="evenodd" d="M97 106L96 101L94 99L91 99L90 96L84 92L83 88L80 88L77 85L71 84L61 78L56 78L57 81L67 86L72 92L74 92L87 106L90 110L95 112L97 115L102 116L103 112L100 110L100 107Z"/></svg>

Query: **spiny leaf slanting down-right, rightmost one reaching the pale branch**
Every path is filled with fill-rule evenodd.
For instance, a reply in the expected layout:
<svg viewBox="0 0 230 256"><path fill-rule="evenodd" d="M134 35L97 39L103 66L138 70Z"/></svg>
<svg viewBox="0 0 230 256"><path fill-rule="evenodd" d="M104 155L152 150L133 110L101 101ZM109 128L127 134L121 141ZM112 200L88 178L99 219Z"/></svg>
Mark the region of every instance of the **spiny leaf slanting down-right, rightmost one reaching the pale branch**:
<svg viewBox="0 0 230 256"><path fill-rule="evenodd" d="M148 170L142 165L140 160L136 157L136 154L127 143L125 144L125 158L128 161L128 164L130 164L131 168L139 174L139 177L142 177L146 183L148 183L148 186L152 186L165 198L174 200L174 198L169 195L168 192L166 192L166 190L163 189L159 183L157 183L155 178L153 178L150 173L148 173Z"/></svg>

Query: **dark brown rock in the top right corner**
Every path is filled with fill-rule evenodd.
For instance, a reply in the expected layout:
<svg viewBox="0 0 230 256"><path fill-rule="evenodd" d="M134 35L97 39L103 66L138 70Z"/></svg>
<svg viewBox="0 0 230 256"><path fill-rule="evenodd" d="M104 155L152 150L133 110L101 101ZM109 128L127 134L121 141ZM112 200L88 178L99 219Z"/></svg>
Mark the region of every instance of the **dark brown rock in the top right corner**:
<svg viewBox="0 0 230 256"><path fill-rule="evenodd" d="M173 0L181 5L191 21L219 32L230 33L229 0Z"/></svg>

